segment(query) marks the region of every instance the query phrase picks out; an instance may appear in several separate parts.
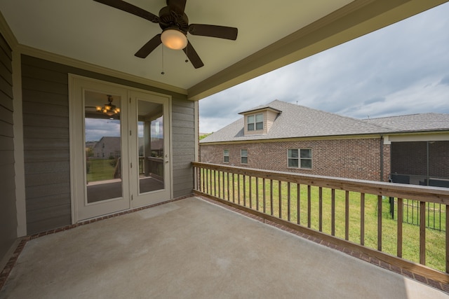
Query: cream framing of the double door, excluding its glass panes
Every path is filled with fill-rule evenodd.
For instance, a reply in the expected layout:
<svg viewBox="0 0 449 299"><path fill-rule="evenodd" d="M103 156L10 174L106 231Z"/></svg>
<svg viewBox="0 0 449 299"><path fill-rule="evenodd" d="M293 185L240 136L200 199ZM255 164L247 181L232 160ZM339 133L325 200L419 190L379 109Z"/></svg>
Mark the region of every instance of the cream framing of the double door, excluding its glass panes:
<svg viewBox="0 0 449 299"><path fill-rule="evenodd" d="M122 186L123 197L106 200L99 203L87 204L86 200L86 173L85 173L85 140L84 140L84 90L95 90L104 92L105 94L119 95L122 100L121 113L126 115L121 120L121 136L122 136ZM130 115L133 115L128 109L130 108L131 95L139 94L144 97L156 97L157 99L165 99L166 110L164 110L164 118L167 118L168 123L168 173L166 174L167 183L165 193L161 194L159 199L154 199L146 204L153 204L156 202L163 202L173 198L173 163L172 161L172 136L171 136L171 97L169 95L162 95L156 92L149 92L147 90L140 90L137 88L130 88L126 85L119 85L116 83L109 83L97 79L86 78L83 76L69 74L69 143L70 143L70 184L71 184L71 206L72 206L72 224L77 223L88 218L97 218L107 214L114 214L117 211L123 211L136 207L131 202L131 195L133 190L133 179L131 178L130 157L133 157L133 148L130 146L129 134L133 134L132 130L136 128L131 125L136 123ZM80 100L81 99L81 100ZM165 113L168 113L165 116ZM127 121L126 121L127 120ZM134 132L137 134L137 132ZM165 137L165 136L164 136ZM135 195L133 195L135 196ZM146 205L139 204L139 206Z"/></svg>

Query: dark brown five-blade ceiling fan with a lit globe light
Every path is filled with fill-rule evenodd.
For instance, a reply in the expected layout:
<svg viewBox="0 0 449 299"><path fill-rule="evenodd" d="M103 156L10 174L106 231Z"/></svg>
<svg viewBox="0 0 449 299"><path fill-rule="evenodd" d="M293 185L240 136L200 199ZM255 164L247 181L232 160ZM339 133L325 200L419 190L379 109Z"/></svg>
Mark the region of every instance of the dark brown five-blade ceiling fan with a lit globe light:
<svg viewBox="0 0 449 299"><path fill-rule="evenodd" d="M135 56L145 58L152 53L161 43L168 48L184 50L185 54L192 62L195 69L203 67L203 62L196 53L192 44L187 40L187 32L192 35L211 36L219 39L237 39L237 28L217 25L189 24L189 18L185 14L185 4L187 0L167 0L167 6L159 11L159 16L149 13L142 8L129 4L122 0L93 0L118 8L121 11L132 13L140 18L159 24L162 29L161 34L156 34L145 43Z"/></svg>

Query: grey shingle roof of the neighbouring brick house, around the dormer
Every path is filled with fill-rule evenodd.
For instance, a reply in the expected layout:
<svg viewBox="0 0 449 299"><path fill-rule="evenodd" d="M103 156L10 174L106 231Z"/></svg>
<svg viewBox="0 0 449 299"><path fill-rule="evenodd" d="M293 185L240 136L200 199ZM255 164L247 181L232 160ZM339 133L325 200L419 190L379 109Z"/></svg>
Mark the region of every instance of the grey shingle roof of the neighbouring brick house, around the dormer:
<svg viewBox="0 0 449 299"><path fill-rule="evenodd" d="M282 111L267 134L244 136L242 117L210 134L200 143L449 130L449 114L440 113L358 120L277 99L248 111L267 107Z"/></svg>

